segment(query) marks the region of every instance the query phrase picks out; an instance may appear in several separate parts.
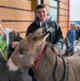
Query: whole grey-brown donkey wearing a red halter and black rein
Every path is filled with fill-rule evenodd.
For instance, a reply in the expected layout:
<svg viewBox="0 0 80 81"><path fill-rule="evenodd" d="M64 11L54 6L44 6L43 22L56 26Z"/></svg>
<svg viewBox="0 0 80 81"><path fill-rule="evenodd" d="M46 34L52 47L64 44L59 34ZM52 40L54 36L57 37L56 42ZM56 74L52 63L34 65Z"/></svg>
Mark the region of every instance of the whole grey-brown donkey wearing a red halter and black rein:
<svg viewBox="0 0 80 81"><path fill-rule="evenodd" d="M46 41L49 33L28 35L15 48L7 62L9 70L31 68L37 81L80 81L80 54L57 55Z"/></svg>

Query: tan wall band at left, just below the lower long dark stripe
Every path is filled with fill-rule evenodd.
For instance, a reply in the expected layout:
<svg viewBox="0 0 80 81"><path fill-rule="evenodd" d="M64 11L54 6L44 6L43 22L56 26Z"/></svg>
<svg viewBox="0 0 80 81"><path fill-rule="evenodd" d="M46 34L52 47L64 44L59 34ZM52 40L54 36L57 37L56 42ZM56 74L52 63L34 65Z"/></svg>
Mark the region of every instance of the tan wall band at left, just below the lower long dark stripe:
<svg viewBox="0 0 80 81"><path fill-rule="evenodd" d="M12 28L17 32L23 32L23 31L27 30L27 28L31 24L31 22L22 22L22 23L21 22L8 22L8 23L7 22L4 22L4 23L1 22L1 24L4 28L6 28L6 27Z"/></svg>

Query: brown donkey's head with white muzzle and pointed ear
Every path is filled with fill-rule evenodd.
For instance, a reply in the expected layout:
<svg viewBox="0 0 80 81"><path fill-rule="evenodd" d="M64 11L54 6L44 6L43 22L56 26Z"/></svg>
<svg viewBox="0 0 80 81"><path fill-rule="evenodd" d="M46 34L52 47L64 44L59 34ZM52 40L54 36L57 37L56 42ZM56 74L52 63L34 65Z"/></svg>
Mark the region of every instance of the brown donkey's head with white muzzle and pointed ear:
<svg viewBox="0 0 80 81"><path fill-rule="evenodd" d="M42 43L45 43L49 33L41 35L30 34L23 39L15 48L10 59L7 62L10 70L17 70L22 67L30 67L38 56L38 51Z"/></svg>

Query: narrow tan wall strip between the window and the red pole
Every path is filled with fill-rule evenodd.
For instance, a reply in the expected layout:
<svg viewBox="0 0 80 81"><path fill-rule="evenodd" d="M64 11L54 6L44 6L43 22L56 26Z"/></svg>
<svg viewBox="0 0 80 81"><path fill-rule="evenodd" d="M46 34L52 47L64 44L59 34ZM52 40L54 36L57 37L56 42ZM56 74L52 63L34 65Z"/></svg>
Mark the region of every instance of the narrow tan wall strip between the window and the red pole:
<svg viewBox="0 0 80 81"><path fill-rule="evenodd" d="M59 0L59 25L62 28L63 36L66 36L66 33L68 31L68 0Z"/></svg>

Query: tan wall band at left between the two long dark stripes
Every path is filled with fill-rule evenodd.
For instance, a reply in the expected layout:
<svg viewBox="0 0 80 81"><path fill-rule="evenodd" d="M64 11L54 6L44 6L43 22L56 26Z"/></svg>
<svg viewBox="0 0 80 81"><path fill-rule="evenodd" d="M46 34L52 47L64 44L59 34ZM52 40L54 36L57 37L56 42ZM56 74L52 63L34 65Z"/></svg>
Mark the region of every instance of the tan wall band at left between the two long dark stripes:
<svg viewBox="0 0 80 81"><path fill-rule="evenodd" d="M13 9L0 8L0 18L9 20L33 20L34 13L28 11L20 11Z"/></svg>

